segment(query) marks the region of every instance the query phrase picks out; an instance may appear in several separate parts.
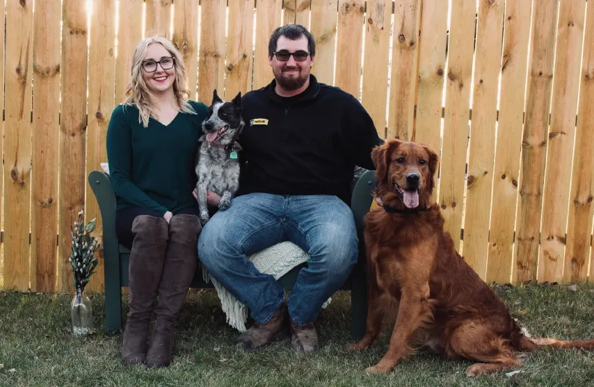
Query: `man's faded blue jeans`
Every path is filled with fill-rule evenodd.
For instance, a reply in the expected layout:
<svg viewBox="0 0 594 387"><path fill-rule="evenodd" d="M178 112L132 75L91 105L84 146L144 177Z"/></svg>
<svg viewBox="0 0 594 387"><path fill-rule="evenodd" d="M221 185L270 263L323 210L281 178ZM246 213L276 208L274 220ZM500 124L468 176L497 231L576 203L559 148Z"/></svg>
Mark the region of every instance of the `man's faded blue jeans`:
<svg viewBox="0 0 594 387"><path fill-rule="evenodd" d="M246 258L290 240L310 254L289 295L289 315L297 325L312 322L357 262L353 213L330 195L252 193L233 199L202 228L198 257L210 274L250 308L258 324L270 320L284 302L284 290Z"/></svg>

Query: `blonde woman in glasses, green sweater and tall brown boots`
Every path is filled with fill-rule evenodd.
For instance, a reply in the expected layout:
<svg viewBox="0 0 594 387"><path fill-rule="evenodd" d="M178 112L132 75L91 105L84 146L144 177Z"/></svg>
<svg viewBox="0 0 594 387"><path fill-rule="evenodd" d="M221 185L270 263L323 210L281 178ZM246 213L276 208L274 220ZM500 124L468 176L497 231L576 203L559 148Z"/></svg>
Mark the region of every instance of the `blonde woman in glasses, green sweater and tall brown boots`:
<svg viewBox="0 0 594 387"><path fill-rule="evenodd" d="M131 249L129 313L122 361L170 363L173 325L198 262L198 205L192 195L207 106L187 99L179 51L163 38L138 42L126 100L111 115L107 156L118 196L115 227ZM153 302L158 302L153 309ZM147 350L147 329L155 323Z"/></svg>

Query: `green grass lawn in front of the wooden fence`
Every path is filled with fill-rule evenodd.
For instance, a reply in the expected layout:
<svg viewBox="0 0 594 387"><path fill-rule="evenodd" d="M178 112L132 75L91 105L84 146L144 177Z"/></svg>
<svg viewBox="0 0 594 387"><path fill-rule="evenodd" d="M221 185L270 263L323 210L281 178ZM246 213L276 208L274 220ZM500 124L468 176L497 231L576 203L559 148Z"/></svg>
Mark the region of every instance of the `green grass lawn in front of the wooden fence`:
<svg viewBox="0 0 594 387"><path fill-rule="evenodd" d="M513 317L533 336L594 338L594 286L497 287ZM233 349L236 331L225 324L216 294L192 290L176 330L169 368L149 370L120 362L121 334L104 331L102 295L93 294L96 333L70 334L71 295L0 292L0 386L594 386L594 353L540 349L520 370L467 379L467 361L419 352L387 376L362 370L387 349L388 335L368 352L344 350L349 295L338 293L318 322L316 354L291 352L288 340L255 353ZM127 301L127 299L125 299ZM125 308L127 311L127 308ZM14 370L14 371L10 371Z"/></svg>

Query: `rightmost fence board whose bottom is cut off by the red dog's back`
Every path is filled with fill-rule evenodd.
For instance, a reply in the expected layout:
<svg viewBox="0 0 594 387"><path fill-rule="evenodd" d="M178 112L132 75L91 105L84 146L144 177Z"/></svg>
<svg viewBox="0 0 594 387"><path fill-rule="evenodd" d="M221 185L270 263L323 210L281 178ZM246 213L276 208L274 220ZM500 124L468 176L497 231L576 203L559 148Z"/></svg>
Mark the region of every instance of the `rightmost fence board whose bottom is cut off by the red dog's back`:
<svg viewBox="0 0 594 387"><path fill-rule="evenodd" d="M483 280L487 273L487 243L504 8L504 0L479 1L476 25L472 128L464 220L464 257Z"/></svg>

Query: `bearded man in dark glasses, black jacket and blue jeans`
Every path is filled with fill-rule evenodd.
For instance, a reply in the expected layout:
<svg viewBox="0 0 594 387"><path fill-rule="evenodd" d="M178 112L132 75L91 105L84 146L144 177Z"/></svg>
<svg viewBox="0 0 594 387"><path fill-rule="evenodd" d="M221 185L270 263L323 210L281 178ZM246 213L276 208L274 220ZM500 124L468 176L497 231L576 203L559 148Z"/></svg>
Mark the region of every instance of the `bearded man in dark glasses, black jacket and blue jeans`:
<svg viewBox="0 0 594 387"><path fill-rule="evenodd" d="M242 100L239 193L198 241L202 264L255 320L237 340L245 350L266 345L288 325L293 349L316 351L314 321L357 263L350 183L355 165L374 169L371 149L382 140L358 99L310 74L315 56L303 26L288 24L271 35L274 80ZM310 255L288 306L274 277L246 258L285 240Z"/></svg>

